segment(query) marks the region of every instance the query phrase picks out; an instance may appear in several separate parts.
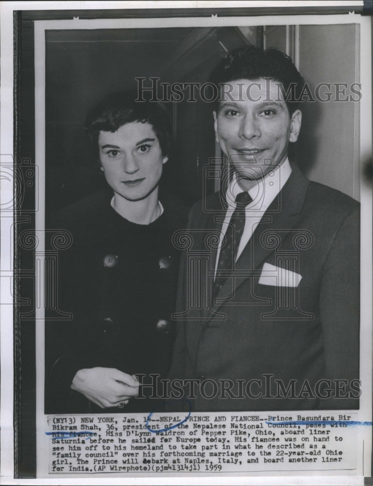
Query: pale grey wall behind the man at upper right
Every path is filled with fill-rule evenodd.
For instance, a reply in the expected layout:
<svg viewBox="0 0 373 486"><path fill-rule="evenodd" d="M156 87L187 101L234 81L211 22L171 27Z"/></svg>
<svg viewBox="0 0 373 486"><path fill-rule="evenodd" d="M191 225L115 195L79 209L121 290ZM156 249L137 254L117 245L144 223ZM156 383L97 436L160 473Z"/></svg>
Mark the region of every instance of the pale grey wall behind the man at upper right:
<svg viewBox="0 0 373 486"><path fill-rule="evenodd" d="M264 29L265 47L290 55L315 93L320 83L348 85L359 82L358 25L270 26ZM343 87L339 88L343 90ZM326 99L326 87L320 93ZM353 95L356 99L357 96ZM354 101L306 102L302 129L292 151L293 159L312 180L359 199L359 103Z"/></svg>

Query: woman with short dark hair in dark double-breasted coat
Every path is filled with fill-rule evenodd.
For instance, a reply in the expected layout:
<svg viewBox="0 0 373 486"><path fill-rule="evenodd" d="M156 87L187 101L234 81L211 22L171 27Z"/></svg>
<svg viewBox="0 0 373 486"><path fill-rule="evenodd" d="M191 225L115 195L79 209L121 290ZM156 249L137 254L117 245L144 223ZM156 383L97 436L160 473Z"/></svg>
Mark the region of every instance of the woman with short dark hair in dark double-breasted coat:
<svg viewBox="0 0 373 486"><path fill-rule="evenodd" d="M170 151L167 112L135 98L111 95L87 117L110 191L65 208L58 222L72 235L58 266L60 308L72 320L47 326L47 413L150 411L138 378L169 369L178 268L172 234L186 211L175 198L158 197Z"/></svg>

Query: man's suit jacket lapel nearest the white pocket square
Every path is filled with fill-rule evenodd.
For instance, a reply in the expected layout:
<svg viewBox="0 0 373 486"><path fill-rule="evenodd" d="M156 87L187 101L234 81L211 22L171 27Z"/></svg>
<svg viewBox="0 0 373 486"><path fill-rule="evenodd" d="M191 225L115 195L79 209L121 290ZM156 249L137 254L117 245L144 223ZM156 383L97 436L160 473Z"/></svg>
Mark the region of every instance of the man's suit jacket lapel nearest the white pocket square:
<svg viewBox="0 0 373 486"><path fill-rule="evenodd" d="M212 305L210 314L205 316L207 319L214 317L214 313L223 304L223 299L231 297L248 277L260 273L261 264L277 247L277 236L281 235L281 240L284 240L299 222L308 185L309 180L297 167L293 167L288 181L263 215L236 262L235 271L240 276L227 279L216 296L216 303Z"/></svg>

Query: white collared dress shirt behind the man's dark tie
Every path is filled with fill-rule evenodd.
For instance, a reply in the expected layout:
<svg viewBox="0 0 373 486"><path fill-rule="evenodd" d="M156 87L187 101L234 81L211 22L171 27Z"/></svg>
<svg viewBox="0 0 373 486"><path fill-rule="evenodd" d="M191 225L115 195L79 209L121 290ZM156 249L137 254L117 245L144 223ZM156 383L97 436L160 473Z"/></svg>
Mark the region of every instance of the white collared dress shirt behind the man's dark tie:
<svg viewBox="0 0 373 486"><path fill-rule="evenodd" d="M280 166L276 166L274 169L269 171L269 173L266 174L265 177L258 180L256 184L251 189L249 189L248 192L253 201L248 204L245 209L245 227L242 233L241 241L238 246L236 261L241 255L247 243L249 242L250 238L252 237L254 229L259 224L260 220L263 217L263 214L267 211L273 199L281 191L290 174L291 166L287 158L283 164L281 164ZM226 193L228 209L225 213L225 218L220 232L220 243L215 262L215 275L218 267L221 243L223 241L229 221L236 208L236 196L240 192L243 191L237 183L237 176L235 174L228 186Z"/></svg>

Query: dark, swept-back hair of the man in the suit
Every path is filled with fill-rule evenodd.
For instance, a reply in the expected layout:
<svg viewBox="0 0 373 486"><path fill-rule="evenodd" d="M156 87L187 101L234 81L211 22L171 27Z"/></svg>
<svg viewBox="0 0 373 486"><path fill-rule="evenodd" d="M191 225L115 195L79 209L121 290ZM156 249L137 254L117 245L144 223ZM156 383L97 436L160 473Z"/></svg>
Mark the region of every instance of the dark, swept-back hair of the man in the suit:
<svg viewBox="0 0 373 486"><path fill-rule="evenodd" d="M221 85L237 79L258 78L272 78L281 83L285 93L289 93L285 101L291 116L298 107L305 81L291 58L274 47L263 50L247 46L228 53L221 60L210 78L210 82L218 87L219 92L215 108L219 108Z"/></svg>

